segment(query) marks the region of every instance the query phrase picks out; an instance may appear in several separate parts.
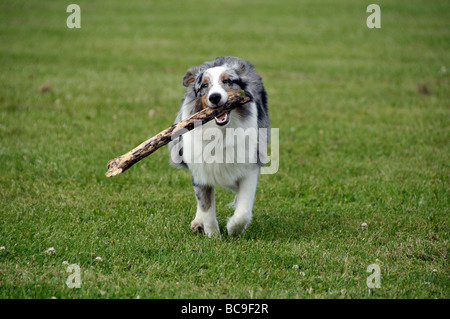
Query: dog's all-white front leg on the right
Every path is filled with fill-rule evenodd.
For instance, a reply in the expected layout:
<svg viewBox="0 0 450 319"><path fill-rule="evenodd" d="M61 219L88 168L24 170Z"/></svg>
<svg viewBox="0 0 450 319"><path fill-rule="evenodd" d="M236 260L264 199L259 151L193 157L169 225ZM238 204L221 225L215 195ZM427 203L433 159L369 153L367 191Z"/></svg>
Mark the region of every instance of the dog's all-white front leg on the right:
<svg viewBox="0 0 450 319"><path fill-rule="evenodd" d="M236 210L227 223L228 234L231 236L242 234L248 224L250 224L258 175L259 168L253 170L239 181Z"/></svg>

